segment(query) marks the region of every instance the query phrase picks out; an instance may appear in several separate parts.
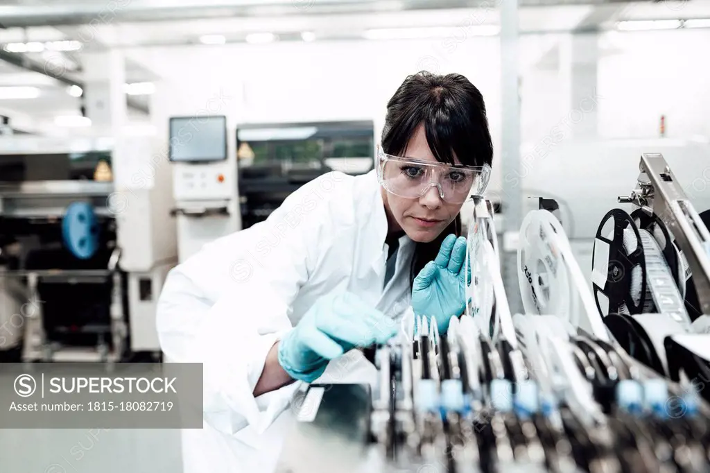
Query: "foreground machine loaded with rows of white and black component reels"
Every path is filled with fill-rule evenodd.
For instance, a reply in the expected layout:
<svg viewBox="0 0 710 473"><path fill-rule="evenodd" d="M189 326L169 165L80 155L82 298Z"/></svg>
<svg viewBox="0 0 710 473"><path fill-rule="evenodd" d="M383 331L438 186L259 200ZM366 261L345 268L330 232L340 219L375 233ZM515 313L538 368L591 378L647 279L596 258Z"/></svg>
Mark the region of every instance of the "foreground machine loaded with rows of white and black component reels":
<svg viewBox="0 0 710 473"><path fill-rule="evenodd" d="M667 241L675 236L704 314L692 323L708 317L710 239L662 156L641 158L628 200L667 227ZM435 322L406 316L397 337L366 350L376 383L311 384L297 393L297 422L278 472L710 471L710 394L699 388L700 379L710 379L710 335L683 316L676 281L661 277L660 261L646 263L640 292L652 304L641 303L626 286L627 293L608 288L632 277L633 265L621 266L620 276L616 261L595 263L606 281L595 284L606 288L611 305L631 300L633 317L655 311L655 322L672 322L612 323L574 258L554 202L538 203L520 228L525 313L508 307L493 206L474 197L466 313L450 320L445 335ZM626 227L619 228L612 241ZM651 246L638 240L636 249ZM595 246L595 261L603 260L600 251ZM631 248L627 256L638 263L644 255ZM639 307L645 312L633 312ZM679 328L669 330L672 324ZM649 352L667 364L648 362Z"/></svg>

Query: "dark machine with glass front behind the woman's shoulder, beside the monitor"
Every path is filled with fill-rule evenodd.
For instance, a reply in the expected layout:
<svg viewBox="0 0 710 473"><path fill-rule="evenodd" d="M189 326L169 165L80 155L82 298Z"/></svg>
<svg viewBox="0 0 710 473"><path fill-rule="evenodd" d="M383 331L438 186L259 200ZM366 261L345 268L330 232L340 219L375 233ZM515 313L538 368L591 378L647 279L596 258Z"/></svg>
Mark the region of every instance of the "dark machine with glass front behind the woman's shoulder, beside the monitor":
<svg viewBox="0 0 710 473"><path fill-rule="evenodd" d="M319 175L368 172L374 165L374 142L372 121L239 125L243 227L266 220L291 192Z"/></svg>

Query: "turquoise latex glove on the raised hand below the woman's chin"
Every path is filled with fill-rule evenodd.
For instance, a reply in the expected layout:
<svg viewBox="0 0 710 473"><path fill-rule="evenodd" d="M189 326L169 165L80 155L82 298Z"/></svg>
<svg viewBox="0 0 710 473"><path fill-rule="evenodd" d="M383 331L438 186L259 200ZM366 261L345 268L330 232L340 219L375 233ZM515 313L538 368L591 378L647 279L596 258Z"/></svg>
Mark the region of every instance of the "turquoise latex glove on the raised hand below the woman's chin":
<svg viewBox="0 0 710 473"><path fill-rule="evenodd" d="M452 315L459 316L466 307L466 238L449 235L439 254L417 274L412 286L412 308L416 315L435 317L439 333L449 329Z"/></svg>

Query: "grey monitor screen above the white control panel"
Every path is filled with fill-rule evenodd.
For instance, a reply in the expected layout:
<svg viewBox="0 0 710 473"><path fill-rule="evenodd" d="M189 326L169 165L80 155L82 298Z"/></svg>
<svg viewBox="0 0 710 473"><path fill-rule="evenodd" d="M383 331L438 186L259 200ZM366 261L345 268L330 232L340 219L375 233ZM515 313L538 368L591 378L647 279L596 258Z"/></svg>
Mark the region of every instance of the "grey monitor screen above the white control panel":
<svg viewBox="0 0 710 473"><path fill-rule="evenodd" d="M225 116L174 116L170 119L170 161L224 161Z"/></svg>

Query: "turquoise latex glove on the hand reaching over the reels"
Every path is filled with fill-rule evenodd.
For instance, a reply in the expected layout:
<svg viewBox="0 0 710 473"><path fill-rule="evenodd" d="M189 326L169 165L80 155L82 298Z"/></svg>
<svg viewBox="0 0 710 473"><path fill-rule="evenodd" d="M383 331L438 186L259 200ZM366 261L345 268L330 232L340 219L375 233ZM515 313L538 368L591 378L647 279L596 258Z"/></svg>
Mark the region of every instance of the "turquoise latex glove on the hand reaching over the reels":
<svg viewBox="0 0 710 473"><path fill-rule="evenodd" d="M354 347L384 343L397 324L351 293L326 295L306 312L278 347L278 362L293 379L310 383L328 361Z"/></svg>

